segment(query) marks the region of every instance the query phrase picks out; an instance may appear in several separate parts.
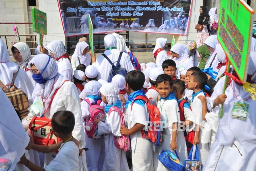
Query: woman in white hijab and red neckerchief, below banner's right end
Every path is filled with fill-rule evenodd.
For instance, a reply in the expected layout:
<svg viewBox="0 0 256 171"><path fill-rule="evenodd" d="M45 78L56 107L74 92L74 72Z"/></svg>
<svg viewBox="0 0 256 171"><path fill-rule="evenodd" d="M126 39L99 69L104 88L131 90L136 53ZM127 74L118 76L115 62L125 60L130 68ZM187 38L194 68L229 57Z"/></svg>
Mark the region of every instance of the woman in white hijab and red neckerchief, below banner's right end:
<svg viewBox="0 0 256 171"><path fill-rule="evenodd" d="M163 62L167 59L167 56L168 56L166 51L163 50L167 42L167 38L157 38L155 42L156 42L156 45L155 45L155 49L153 50L153 57L155 59L155 63L157 67L159 67L159 66L162 66Z"/></svg>

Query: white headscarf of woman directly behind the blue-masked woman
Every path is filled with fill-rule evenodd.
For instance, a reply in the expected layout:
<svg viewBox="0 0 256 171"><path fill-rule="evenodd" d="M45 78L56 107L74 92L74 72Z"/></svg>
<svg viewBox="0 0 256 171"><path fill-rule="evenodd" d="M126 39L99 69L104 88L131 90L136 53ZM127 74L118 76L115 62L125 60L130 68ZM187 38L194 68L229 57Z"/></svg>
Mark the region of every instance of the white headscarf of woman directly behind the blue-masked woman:
<svg viewBox="0 0 256 171"><path fill-rule="evenodd" d="M45 48L54 54L54 58L59 58L66 53L65 45L60 40L52 41Z"/></svg>

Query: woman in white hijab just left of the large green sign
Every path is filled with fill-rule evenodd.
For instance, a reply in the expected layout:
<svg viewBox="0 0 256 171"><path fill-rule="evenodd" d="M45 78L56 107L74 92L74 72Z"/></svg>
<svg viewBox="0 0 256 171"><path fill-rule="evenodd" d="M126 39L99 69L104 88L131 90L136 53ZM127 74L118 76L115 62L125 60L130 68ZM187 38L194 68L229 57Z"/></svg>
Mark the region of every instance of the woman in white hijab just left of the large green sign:
<svg viewBox="0 0 256 171"><path fill-rule="evenodd" d="M204 69L207 68L213 68L213 71L218 71L217 70L217 66L218 66L218 58L217 58L217 52L216 52L216 46L217 44L219 44L218 40L217 40L217 35L211 35L209 36L205 41L204 41L204 45L207 46L207 49L211 52ZM218 45L220 46L220 45Z"/></svg>

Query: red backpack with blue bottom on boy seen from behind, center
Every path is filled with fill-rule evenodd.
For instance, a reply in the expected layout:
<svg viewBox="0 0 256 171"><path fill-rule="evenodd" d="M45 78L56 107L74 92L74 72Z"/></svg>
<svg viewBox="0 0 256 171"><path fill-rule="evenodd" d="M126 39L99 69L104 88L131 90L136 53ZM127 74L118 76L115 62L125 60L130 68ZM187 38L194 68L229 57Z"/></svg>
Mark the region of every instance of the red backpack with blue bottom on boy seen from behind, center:
<svg viewBox="0 0 256 171"><path fill-rule="evenodd" d="M131 109L133 106L133 103L135 100L143 100L147 104L148 112L149 112L149 121L152 123L151 126L148 127L148 130L141 130L142 138L145 137L151 141L153 144L160 146L162 143L162 132L161 130L161 114L159 109L152 105L149 101L149 99L146 96L137 96L134 98Z"/></svg>

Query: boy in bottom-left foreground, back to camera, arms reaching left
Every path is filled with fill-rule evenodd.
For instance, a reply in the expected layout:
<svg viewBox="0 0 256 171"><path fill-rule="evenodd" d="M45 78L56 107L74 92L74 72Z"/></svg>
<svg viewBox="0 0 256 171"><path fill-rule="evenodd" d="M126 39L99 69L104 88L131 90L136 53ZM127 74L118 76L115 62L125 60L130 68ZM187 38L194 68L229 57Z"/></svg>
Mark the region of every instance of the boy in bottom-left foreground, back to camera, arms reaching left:
<svg viewBox="0 0 256 171"><path fill-rule="evenodd" d="M34 144L32 149L42 153L50 153L59 150L55 158L44 168L30 162L25 155L21 157L19 162L32 171L79 170L79 143L72 136L72 131L75 126L74 114L70 111L58 111L53 114L51 123L54 135L60 137L62 141L51 146Z"/></svg>

